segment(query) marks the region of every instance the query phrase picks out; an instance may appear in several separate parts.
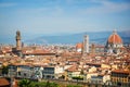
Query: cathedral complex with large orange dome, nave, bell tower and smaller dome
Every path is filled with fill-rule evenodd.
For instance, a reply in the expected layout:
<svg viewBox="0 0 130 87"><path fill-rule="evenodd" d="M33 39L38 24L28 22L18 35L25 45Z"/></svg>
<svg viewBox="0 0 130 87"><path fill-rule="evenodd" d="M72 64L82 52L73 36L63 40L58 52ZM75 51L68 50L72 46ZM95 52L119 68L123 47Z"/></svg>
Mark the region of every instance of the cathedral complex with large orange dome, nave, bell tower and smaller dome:
<svg viewBox="0 0 130 87"><path fill-rule="evenodd" d="M106 40L105 45L89 45L89 36L84 36L82 44L76 45L77 52L87 52L87 53L121 53L123 50L123 44L121 37L117 34L116 30Z"/></svg>

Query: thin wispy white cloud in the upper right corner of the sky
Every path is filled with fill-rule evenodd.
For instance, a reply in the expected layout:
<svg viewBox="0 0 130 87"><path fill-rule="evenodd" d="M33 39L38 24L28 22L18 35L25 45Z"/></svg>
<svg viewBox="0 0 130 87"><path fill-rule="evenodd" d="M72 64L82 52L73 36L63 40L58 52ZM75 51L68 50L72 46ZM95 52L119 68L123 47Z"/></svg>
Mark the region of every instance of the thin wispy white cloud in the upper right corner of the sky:
<svg viewBox="0 0 130 87"><path fill-rule="evenodd" d="M81 13L86 14L107 14L118 13L126 10L130 10L130 3L127 2L110 2L108 0L91 0L92 3L100 3L96 7L90 7L81 10Z"/></svg>

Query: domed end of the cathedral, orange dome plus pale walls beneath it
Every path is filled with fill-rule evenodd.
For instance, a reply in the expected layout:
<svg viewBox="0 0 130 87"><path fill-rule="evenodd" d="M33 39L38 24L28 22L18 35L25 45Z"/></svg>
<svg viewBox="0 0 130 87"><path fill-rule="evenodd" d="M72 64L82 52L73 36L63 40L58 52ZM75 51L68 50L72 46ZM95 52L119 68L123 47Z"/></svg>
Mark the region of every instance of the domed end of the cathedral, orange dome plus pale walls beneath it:
<svg viewBox="0 0 130 87"><path fill-rule="evenodd" d="M108 53L119 53L122 48L122 39L116 30L108 37L105 51Z"/></svg>

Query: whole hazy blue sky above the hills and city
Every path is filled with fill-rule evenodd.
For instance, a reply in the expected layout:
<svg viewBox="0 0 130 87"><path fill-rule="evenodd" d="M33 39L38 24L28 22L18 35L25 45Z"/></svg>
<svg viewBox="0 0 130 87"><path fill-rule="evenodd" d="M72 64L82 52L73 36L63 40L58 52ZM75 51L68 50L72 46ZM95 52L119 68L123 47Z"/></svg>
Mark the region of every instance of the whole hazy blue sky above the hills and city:
<svg viewBox="0 0 130 87"><path fill-rule="evenodd" d="M0 0L0 36L130 29L130 0Z"/></svg>

